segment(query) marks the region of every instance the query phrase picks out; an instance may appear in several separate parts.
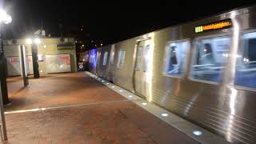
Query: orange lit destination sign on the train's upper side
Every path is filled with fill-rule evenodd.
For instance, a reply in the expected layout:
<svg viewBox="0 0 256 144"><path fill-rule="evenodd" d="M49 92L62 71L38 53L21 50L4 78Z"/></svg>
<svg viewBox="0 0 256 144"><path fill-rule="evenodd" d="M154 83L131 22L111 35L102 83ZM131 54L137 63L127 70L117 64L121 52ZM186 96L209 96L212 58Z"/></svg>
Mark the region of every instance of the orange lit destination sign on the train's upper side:
<svg viewBox="0 0 256 144"><path fill-rule="evenodd" d="M231 19L225 19L218 22L211 22L202 26L196 26L194 28L194 32L202 33L210 30L222 30L222 29L230 28L231 26L232 26Z"/></svg>

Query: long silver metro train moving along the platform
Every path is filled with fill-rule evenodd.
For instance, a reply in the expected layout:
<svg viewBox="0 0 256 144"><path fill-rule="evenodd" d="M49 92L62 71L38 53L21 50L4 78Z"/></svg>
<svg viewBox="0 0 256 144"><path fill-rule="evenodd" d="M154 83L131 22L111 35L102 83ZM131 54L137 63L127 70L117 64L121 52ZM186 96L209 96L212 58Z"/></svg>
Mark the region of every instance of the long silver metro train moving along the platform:
<svg viewBox="0 0 256 144"><path fill-rule="evenodd" d="M256 6L90 50L89 71L232 143L256 143Z"/></svg>

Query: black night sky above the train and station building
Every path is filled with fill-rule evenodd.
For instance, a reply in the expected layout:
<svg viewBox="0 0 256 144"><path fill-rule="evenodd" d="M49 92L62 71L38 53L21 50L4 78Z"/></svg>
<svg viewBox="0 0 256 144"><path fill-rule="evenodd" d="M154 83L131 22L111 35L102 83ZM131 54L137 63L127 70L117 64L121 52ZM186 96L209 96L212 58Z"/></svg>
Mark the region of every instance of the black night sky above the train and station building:
<svg viewBox="0 0 256 144"><path fill-rule="evenodd" d="M40 29L43 21L47 35L60 36L62 23L64 36L79 35L109 44L254 3L255 0L8 0L4 8L13 22L5 26L5 34L7 38L26 37Z"/></svg>

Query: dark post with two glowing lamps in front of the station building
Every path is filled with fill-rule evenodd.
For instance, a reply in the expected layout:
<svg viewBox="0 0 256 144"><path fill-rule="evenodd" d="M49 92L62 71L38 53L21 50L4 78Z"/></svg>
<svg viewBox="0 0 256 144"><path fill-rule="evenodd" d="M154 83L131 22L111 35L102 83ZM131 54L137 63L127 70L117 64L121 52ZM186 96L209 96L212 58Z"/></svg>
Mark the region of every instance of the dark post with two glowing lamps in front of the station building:
<svg viewBox="0 0 256 144"><path fill-rule="evenodd" d="M26 39L26 43L31 45L34 78L39 78L40 74L38 69L38 45L41 43L41 40L39 38L28 38Z"/></svg>

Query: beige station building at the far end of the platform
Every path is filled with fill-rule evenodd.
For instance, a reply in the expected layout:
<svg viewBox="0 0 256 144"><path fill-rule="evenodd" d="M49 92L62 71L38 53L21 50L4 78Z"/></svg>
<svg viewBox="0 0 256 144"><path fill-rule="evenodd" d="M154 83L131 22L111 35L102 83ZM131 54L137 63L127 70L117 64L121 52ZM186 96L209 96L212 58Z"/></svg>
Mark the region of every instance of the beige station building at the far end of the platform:
<svg viewBox="0 0 256 144"><path fill-rule="evenodd" d="M38 70L40 76L52 73L68 73L77 71L74 38L40 38L38 47ZM6 58L7 76L21 74L18 46L26 46L28 74L33 74L31 44L26 38L3 41Z"/></svg>

